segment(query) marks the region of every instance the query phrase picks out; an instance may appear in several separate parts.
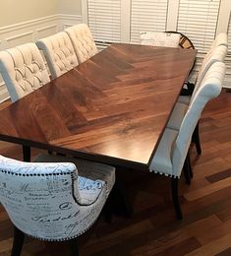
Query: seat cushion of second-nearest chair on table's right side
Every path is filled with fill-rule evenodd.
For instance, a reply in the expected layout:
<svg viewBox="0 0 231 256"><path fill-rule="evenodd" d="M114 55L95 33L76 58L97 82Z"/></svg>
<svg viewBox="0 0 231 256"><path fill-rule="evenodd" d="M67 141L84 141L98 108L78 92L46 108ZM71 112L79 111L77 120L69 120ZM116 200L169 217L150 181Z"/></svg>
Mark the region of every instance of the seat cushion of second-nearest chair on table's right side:
<svg viewBox="0 0 231 256"><path fill-rule="evenodd" d="M177 102L168 121L167 128L179 131L187 109L187 104Z"/></svg>

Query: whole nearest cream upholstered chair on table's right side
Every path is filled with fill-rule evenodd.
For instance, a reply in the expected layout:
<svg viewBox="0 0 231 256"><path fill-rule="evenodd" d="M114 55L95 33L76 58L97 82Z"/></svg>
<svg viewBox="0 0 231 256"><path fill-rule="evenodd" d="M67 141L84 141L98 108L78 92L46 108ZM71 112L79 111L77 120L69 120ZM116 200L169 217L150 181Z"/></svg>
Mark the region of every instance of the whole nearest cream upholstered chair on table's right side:
<svg viewBox="0 0 231 256"><path fill-rule="evenodd" d="M172 198L178 219L182 219L178 179L188 156L191 138L205 104L209 99L220 94L224 74L224 63L215 62L211 65L202 79L198 91L191 98L179 130L165 129L149 166L150 171L172 177Z"/></svg>

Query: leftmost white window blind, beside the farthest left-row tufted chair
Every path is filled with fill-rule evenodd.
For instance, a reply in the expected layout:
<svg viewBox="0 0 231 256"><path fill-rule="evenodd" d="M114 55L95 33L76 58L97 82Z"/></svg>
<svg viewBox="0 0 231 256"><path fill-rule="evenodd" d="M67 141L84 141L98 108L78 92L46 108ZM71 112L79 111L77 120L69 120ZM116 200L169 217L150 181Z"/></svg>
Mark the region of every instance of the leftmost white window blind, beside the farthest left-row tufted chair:
<svg viewBox="0 0 231 256"><path fill-rule="evenodd" d="M121 41L121 0L87 0L87 15L95 41Z"/></svg>

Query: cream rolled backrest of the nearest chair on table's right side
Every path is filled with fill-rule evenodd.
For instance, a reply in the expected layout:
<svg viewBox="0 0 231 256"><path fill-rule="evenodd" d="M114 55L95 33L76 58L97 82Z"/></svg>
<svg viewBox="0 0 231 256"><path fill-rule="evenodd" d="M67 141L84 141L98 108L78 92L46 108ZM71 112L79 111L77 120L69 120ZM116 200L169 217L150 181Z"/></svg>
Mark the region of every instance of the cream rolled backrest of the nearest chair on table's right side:
<svg viewBox="0 0 231 256"><path fill-rule="evenodd" d="M172 165L174 175L180 175L190 147L192 134L201 117L202 110L208 100L219 96L224 75L225 64L222 62L213 63L204 76L202 85L191 100L173 147Z"/></svg>

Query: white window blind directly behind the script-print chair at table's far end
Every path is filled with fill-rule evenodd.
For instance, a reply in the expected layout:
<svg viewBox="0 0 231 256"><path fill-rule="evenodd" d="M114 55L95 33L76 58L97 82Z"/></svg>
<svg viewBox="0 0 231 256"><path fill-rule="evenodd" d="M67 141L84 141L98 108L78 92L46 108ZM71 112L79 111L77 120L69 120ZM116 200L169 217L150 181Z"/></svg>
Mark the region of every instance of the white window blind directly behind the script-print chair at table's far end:
<svg viewBox="0 0 231 256"><path fill-rule="evenodd" d="M168 0L131 1L131 42L140 43L140 32L165 32Z"/></svg>

